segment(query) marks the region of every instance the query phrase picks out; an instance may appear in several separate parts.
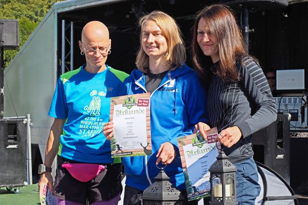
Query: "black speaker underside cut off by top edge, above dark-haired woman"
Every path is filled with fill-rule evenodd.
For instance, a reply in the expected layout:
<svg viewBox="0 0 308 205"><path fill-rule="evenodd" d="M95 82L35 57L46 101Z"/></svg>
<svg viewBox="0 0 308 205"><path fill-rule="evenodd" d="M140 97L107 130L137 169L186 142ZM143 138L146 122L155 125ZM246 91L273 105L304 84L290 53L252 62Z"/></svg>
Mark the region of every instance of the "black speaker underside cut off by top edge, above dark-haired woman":
<svg viewBox="0 0 308 205"><path fill-rule="evenodd" d="M240 9L242 5L247 5L255 10L281 8L288 5L287 0L220 0L220 3L233 9Z"/></svg>

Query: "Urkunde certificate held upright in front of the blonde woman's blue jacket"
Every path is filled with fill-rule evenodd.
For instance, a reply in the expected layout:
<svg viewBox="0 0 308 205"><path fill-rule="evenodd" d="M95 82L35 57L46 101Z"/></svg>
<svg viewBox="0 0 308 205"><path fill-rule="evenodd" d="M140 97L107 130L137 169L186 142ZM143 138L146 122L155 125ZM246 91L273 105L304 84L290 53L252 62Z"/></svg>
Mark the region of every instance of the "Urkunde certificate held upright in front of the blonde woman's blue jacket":
<svg viewBox="0 0 308 205"><path fill-rule="evenodd" d="M112 97L111 157L151 155L150 93Z"/></svg>

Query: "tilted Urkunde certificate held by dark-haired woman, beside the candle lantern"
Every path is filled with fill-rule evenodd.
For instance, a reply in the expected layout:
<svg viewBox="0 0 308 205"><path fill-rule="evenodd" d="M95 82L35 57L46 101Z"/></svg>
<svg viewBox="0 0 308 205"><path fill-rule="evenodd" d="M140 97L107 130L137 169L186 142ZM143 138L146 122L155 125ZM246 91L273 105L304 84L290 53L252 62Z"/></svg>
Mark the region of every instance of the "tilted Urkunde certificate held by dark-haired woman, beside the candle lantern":
<svg viewBox="0 0 308 205"><path fill-rule="evenodd" d="M188 200L209 196L209 167L216 161L217 128L206 131L207 139L201 133L178 138L182 167Z"/></svg>

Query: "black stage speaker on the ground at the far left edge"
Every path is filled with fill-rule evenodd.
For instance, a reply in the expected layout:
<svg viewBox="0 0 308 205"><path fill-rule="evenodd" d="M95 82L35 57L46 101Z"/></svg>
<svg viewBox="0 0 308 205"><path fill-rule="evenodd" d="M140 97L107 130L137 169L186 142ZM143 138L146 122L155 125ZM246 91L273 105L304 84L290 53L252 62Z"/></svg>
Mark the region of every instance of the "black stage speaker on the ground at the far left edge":
<svg viewBox="0 0 308 205"><path fill-rule="evenodd" d="M27 181L27 124L24 119L0 119L0 187Z"/></svg>

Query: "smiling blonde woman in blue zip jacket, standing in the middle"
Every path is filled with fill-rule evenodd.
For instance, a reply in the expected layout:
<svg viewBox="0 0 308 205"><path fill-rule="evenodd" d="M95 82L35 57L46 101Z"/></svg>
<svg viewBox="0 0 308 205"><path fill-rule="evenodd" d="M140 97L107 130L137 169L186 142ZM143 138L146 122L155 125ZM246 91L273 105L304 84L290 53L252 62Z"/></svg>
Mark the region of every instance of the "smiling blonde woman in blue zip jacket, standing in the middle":
<svg viewBox="0 0 308 205"><path fill-rule="evenodd" d="M152 155L123 157L126 174L124 204L141 204L140 194L164 169L170 182L186 196L177 138L192 134L195 124L206 119L206 96L197 73L185 63L185 47L175 20L161 11L140 19L141 47L134 69L124 83L123 94L151 93ZM104 127L108 138L113 124ZM161 166L161 165L160 165ZM187 201L185 204L197 204Z"/></svg>

